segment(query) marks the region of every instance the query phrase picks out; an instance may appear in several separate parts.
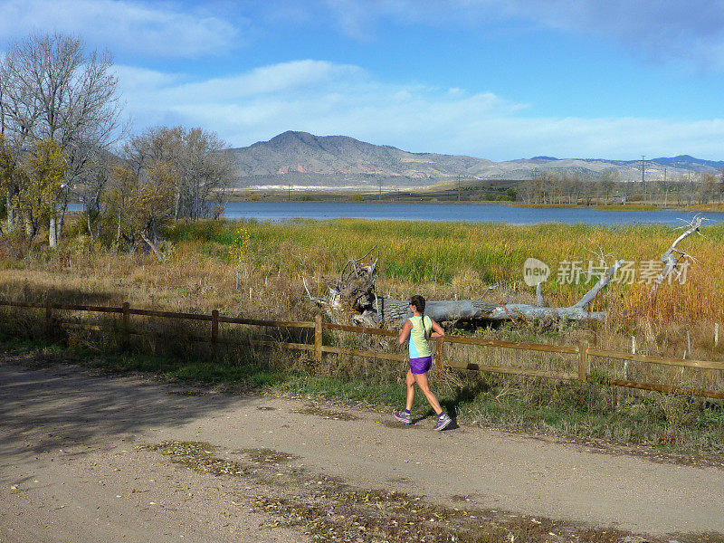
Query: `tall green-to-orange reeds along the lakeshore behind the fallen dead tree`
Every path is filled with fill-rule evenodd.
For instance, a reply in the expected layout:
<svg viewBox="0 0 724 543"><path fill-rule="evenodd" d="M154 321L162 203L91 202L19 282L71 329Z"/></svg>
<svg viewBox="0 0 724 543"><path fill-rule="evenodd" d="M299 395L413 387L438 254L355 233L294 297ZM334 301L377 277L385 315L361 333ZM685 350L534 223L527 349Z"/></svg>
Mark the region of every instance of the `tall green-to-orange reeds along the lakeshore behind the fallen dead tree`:
<svg viewBox="0 0 724 543"><path fill-rule="evenodd" d="M238 224L178 225L171 238L183 246L223 263L226 248L238 235ZM252 267L264 276L311 278L334 275L349 258L373 247L381 269L381 291L406 297L422 291L430 299L475 297L489 285L520 299L532 296L521 284L523 263L529 257L547 262L557 271L561 262L588 261L597 265L594 252L631 262L658 261L679 231L659 225L616 227L584 224L450 224L407 221L297 220L285 224L245 223ZM704 229L706 239L693 236L685 248L699 262L691 266L684 285L662 291L652 313L658 321L717 320L724 317L724 274L718 262L724 256L724 227ZM190 255L189 255L190 256ZM187 260L186 258L184 260ZM214 260L214 259L213 259ZM226 262L229 262L228 260ZM555 279L555 275L552 279ZM633 308L647 300L648 285L612 285L596 309ZM548 281L544 292L551 305L578 300L591 284L558 284ZM512 291L512 292L511 292ZM611 303L614 300L614 303Z"/></svg>

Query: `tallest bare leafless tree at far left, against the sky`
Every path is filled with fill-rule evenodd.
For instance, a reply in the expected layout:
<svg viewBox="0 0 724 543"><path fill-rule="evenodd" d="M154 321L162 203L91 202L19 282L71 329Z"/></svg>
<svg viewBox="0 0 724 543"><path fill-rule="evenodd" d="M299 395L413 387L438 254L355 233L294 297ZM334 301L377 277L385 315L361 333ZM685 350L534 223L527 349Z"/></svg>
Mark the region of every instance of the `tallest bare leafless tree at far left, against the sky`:
<svg viewBox="0 0 724 543"><path fill-rule="evenodd" d="M21 147L52 140L66 157L59 204L50 217L55 246L73 187L121 136L117 78L108 52L85 52L78 38L34 33L11 45L2 86L5 129Z"/></svg>

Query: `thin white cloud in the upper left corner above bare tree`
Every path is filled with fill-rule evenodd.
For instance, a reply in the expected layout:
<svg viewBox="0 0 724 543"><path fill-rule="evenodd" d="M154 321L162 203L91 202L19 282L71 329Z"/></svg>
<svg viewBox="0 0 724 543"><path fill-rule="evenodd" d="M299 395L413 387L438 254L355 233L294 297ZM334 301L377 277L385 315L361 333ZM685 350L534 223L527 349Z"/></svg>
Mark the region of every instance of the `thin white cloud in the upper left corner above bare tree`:
<svg viewBox="0 0 724 543"><path fill-rule="evenodd" d="M77 33L94 46L148 56L196 57L228 52L233 24L170 3L129 0L0 0L0 40L29 32Z"/></svg>

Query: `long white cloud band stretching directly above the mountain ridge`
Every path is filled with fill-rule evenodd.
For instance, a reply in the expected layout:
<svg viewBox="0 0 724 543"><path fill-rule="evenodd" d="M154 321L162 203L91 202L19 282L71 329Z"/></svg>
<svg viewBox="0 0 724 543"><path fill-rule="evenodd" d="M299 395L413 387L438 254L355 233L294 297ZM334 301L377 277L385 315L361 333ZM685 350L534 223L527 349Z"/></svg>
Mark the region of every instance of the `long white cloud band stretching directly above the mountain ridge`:
<svg viewBox="0 0 724 543"><path fill-rule="evenodd" d="M491 92L388 84L344 64L284 62L227 78L119 67L124 97L142 129L212 129L232 146L284 130L348 135L416 152L507 160L535 155L633 159L688 153L721 158L724 120L536 117Z"/></svg>

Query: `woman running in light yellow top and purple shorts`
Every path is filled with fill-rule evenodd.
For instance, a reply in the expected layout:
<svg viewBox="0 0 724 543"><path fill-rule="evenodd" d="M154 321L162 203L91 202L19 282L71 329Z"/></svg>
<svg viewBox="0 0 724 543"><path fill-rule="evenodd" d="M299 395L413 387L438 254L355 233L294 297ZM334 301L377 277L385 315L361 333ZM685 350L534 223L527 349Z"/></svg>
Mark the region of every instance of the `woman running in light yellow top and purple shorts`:
<svg viewBox="0 0 724 543"><path fill-rule="evenodd" d="M443 430L452 423L452 419L443 412L443 408L433 395L427 382L427 372L433 366L433 353L427 344L427 340L442 338L445 331L433 319L424 317L424 298L422 296L415 295L410 299L410 310L413 316L405 320L405 325L400 330L399 336L400 345L405 343L407 338L410 338L410 370L407 372L407 378L405 379L407 403L404 411L395 411L393 415L401 423L412 424L413 418L410 409L413 406L414 385L416 383L435 414L437 414L437 422L435 422L433 430Z"/></svg>

